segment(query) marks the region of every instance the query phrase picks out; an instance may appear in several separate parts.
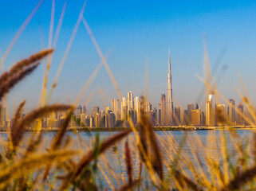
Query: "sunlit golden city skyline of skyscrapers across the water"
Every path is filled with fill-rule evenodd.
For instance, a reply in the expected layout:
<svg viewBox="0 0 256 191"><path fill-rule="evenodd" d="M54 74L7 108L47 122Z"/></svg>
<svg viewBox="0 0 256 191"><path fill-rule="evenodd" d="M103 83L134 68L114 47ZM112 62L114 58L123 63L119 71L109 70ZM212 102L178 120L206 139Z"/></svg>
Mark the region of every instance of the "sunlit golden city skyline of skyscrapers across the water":
<svg viewBox="0 0 256 191"><path fill-rule="evenodd" d="M78 106L76 113L72 116L69 127L129 127L128 119L132 120L135 126L140 122L140 111L144 113L152 122L152 126L243 126L248 125L242 115L244 115L242 103L235 109L234 99L229 99L227 104L213 103L213 95L207 93L205 111L201 111L198 103L188 103L186 109L174 107L172 101L171 88L171 58L169 50L168 75L167 75L167 96L161 95L158 109L152 108L150 102L141 106L140 97L134 98L132 92L128 92L127 97L112 99L111 107L93 107L91 115L87 113L86 106ZM26 118L26 115L22 115ZM37 119L30 128L61 127L65 120L65 112L53 112L41 119ZM6 119L6 107L1 110L1 127L11 127L14 119Z"/></svg>

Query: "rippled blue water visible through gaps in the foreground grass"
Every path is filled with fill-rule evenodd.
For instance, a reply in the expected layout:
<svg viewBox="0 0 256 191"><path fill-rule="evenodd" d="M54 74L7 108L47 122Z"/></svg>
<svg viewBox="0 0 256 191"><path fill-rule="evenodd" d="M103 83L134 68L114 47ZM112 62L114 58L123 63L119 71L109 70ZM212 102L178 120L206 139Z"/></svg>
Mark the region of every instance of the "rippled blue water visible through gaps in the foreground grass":
<svg viewBox="0 0 256 191"><path fill-rule="evenodd" d="M100 132L100 140L110 137L112 134L118 132ZM240 140L250 137L251 130L238 130ZM44 132L44 138L40 150L38 152L45 152L49 148L51 139L56 135L56 132ZM93 148L96 132L67 132L72 138L70 149L81 150L81 156ZM230 158L234 162L237 158L234 144L228 136L228 131L156 131L158 143L160 146L160 152L163 158L163 169L165 177L168 175L167 166L171 166L175 160L181 160L176 157L177 150L182 150L182 155L186 156L187 161L191 161L194 166L199 166L199 162L195 160L195 156L200 161L205 161L205 158L212 158L222 162L221 152L221 134L226 134L227 148L230 153ZM6 133L2 133L2 138L6 138ZM23 141L23 144L30 138L31 132L27 132ZM112 146L100 155L98 174L100 177L97 181L108 187L114 189L118 185L123 184L123 180L127 180L125 155L124 155L124 142L128 140L128 144L132 154L133 165L133 177L139 176L140 169L140 154L136 146L136 138L134 134L129 134L127 138L123 138L122 141L117 142L116 146ZM186 140L186 141L184 141ZM80 157L80 156L79 156ZM78 161L79 158L73 158L73 161ZM183 162L181 162L183 163ZM209 166L202 164L204 170L209 171ZM183 170L188 172L187 166L183 166ZM142 176L146 179L142 170ZM187 173L189 175L189 173ZM146 188L144 188L146 189Z"/></svg>

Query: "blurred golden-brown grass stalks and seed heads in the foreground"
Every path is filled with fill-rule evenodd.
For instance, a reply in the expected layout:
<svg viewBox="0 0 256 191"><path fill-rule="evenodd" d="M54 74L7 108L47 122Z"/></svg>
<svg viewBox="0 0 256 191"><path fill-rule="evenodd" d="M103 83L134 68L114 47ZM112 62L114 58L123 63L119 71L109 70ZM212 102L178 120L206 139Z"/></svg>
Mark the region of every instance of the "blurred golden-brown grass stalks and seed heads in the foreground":
<svg viewBox="0 0 256 191"><path fill-rule="evenodd" d="M19 35L31 18L33 18L33 14L36 13L42 2L41 0L37 4L36 8L23 23L21 29L19 29L2 58L1 65L3 65L4 60L10 53L10 49L18 40ZM141 97L140 127L138 131L128 115L128 123L132 127L133 134L131 134L131 131L122 131L110 136L103 142L100 142L99 134L93 134L92 139L94 142L92 148L89 148L83 142L79 134L76 134L76 140L73 140L75 138L70 138L66 132L76 105L95 79L102 65L106 68L112 84L116 88L116 93L120 99L122 98L120 88L108 66L106 60L108 56L104 57L89 24L83 17L86 2L85 0L48 95L46 94L46 87L53 53L51 48L55 48L57 45L66 2L62 8L61 18L57 24L57 31L53 39L55 1L52 1L49 49L42 50L40 53L33 54L31 57L19 61L10 68L10 71L3 72L2 76L0 76L0 99L2 100L10 92L11 88L26 76L29 76L37 68L39 62L47 57L47 68L43 79L41 96L42 106L30 111L25 119L21 119L26 101L20 103L14 115L14 123L7 140L2 137L0 138L2 146L0 151L0 189L108 189L100 184L101 173L104 181L108 183L109 188L112 190L135 190L135 188L138 190L152 188L159 190L255 190L256 134L252 134L250 138L242 139L232 129L221 131L219 136L214 131L211 131L207 136L206 142L203 142L196 133L184 133L180 142L177 142L175 137L167 134L167 132L163 135L158 135L153 131L148 114L144 111L145 103L148 99L148 80L146 80L146 98ZM85 82L84 88L81 89L73 105L71 105L70 101L69 105L48 105L81 21L85 25L97 53L100 55L101 63L96 67L92 75L89 76L89 80ZM223 99L228 103L228 100L218 92L216 84L212 82L206 41L204 41L204 56L205 78L199 77L199 79L205 84L206 96L209 92L212 92L216 96L217 102L219 102L219 99ZM148 79L148 73L146 78ZM247 123L255 125L254 105L246 92L242 80L241 84L246 96L243 96L239 90L238 94L250 112L250 117L238 111L230 103L228 103L229 107L232 107ZM86 104L90 98L91 96L86 100ZM30 124L34 123L35 120L41 120L53 111L67 112L57 134L50 140L47 140L47 147L45 148L44 145L44 134L38 131L40 129L33 131L30 136L28 135L29 140L26 140L27 127L30 127ZM217 119L219 119L223 126L230 127L229 119L225 119L219 114L219 111L217 111ZM129 140L128 142L128 134L130 134L129 136L132 141ZM126 142L121 141L124 138L127 138ZM78 144L79 150L73 149L74 144ZM188 151L183 150L183 146L187 146ZM229 150L229 146L233 146L234 150L232 152ZM110 148L115 149L113 153L118 159L118 164L111 164L106 155L104 155L104 152ZM122 153L122 150L120 148L123 148L124 151L124 156L121 158L120 153ZM133 155L134 153L136 154ZM124 158L123 163L126 173L123 173L122 158ZM133 163L134 158L140 164L137 166L138 169L136 169L136 164ZM120 166L121 174L116 174L114 166ZM125 174L127 175L126 177Z"/></svg>

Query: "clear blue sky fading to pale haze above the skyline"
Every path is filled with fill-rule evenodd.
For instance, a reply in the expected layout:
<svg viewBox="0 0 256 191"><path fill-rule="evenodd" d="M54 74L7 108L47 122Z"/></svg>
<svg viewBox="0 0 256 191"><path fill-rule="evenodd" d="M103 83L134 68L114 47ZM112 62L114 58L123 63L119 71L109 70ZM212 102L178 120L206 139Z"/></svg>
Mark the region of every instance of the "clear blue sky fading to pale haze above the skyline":
<svg viewBox="0 0 256 191"><path fill-rule="evenodd" d="M37 2L39 1L0 0L0 57ZM56 1L54 32L64 2ZM83 2L67 2L49 73L49 84L57 72ZM51 3L50 0L45 0L34 15L7 57L5 68L10 68L16 61L47 47ZM219 91L238 103L241 100L236 90L236 87L241 87L237 76L239 72L250 96L256 96L255 1L88 0L84 16L102 52L105 54L112 50L108 64L123 96L127 96L129 91L134 92L134 96L145 92L145 71L148 63L149 99L153 106L158 106L161 93L167 92L167 60L170 46L174 104L185 107L187 103L195 103L203 87L203 83L195 76L203 76L203 34L207 36L213 71L219 64L219 70L216 72ZM223 50L226 53L218 62ZM76 99L99 62L100 57L93 42L85 26L81 24L51 103L68 103L68 96L71 101ZM223 65L227 68L225 71L222 70ZM23 99L27 100L26 110L36 107L41 84L42 67L10 93L10 109L14 107L14 103L17 105ZM108 105L108 97L118 98L104 68L101 68L88 92L81 99L81 104L85 102L89 92L93 91L93 98L88 107L98 105L102 108L104 102L100 90L104 92L104 102Z"/></svg>

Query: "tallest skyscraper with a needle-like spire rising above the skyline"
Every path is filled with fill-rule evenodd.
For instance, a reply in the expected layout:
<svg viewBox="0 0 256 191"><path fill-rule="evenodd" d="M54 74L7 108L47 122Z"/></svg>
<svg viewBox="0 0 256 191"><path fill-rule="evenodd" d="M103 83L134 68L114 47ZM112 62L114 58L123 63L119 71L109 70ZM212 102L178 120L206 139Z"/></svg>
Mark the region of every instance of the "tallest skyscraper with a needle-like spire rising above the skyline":
<svg viewBox="0 0 256 191"><path fill-rule="evenodd" d="M172 102L172 88L171 88L171 57L170 57L170 47L169 47L169 61L168 61L168 77L167 77L167 125L172 125L172 111L173 111L173 102Z"/></svg>

